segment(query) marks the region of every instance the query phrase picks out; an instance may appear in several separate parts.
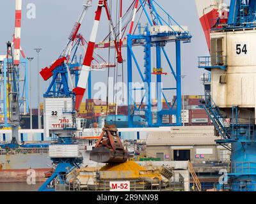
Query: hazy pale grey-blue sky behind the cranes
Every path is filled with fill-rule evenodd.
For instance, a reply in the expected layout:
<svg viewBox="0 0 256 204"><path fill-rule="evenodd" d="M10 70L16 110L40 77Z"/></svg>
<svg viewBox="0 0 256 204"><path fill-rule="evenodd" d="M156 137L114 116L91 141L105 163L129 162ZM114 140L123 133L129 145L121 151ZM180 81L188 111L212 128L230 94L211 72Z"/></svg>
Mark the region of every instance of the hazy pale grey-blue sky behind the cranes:
<svg viewBox="0 0 256 204"><path fill-rule="evenodd" d="M88 39L92 30L92 24L95 13L95 6L97 0L93 1L93 7L89 9L81 26L80 33L84 38ZM115 2L115 0L113 0ZM131 0L129 0L131 2ZM26 13L28 12L27 6L33 3L36 6L36 18L28 19ZM184 80L184 94L202 94L203 87L200 83L200 75L204 70L196 68L197 57L200 55L209 55L207 45L205 42L204 33L197 17L195 2L193 0L159 0L164 9L172 15L180 25L188 25L189 31L193 38L191 43L182 44L182 75L186 75ZM36 52L33 48L42 48L40 53L40 69L49 66L52 61L56 60L61 51L67 43L68 35L76 22L77 17L81 13L83 0L23 0L22 4L22 34L21 45L26 54L26 57L35 57L32 62L32 92L33 92L33 106L37 103L37 65L36 65ZM14 13L15 13L15 0L0 1L0 55L6 54L6 41L12 40L14 29ZM106 15L103 13L102 23L99 28L99 35L97 41L101 41L103 36L108 33L108 25L106 22ZM170 56L173 66L175 65L175 47L174 43L170 43L166 48ZM100 52L100 51L99 51ZM108 55L102 54L105 59ZM172 57L173 56L173 57ZM143 58L142 54L138 57ZM126 51L124 50L124 58L126 58ZM142 61L141 61L142 62ZM152 61L156 62L156 61ZM163 68L166 62L163 60ZM126 68L126 64L124 65ZM136 69L134 67L134 69ZM169 70L168 70L169 71ZM170 71L169 71L170 72ZM134 75L136 75L134 71ZM137 74L138 75L138 74ZM95 82L106 82L107 72L93 72L93 84ZM125 81L126 81L125 71ZM164 82L168 85L172 84L170 78L165 78ZM42 94L46 91L49 82L43 82L40 78L41 85L41 100ZM166 87L166 85L165 85Z"/></svg>

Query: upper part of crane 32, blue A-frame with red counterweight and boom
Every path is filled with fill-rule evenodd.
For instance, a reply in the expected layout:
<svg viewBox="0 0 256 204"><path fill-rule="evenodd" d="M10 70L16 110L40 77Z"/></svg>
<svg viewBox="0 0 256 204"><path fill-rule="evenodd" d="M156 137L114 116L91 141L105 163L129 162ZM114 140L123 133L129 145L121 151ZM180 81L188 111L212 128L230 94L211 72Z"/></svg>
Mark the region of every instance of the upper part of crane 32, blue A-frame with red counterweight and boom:
<svg viewBox="0 0 256 204"><path fill-rule="evenodd" d="M79 29L83 22L84 16L88 11L88 8L92 6L92 0L86 1L83 4L83 11L79 16L76 24L74 25L70 36L68 37L68 43L61 52L60 57L51 64L51 66L45 67L40 71L42 78L47 81L51 79L51 83L45 92L44 97L51 96L73 96L75 93L70 91L74 89L79 82L79 75L81 72L81 60L83 60L83 54L80 55L79 62L77 62L77 52L79 48L82 48L86 52L87 48L90 46L84 37L79 34ZM106 62L103 57L101 57L97 52L93 54L92 57L92 67L90 71L101 71L106 68L114 68L115 64ZM66 75L67 74L67 75ZM75 81L73 77L75 75ZM89 81L90 81L89 76ZM68 82L70 85L68 85ZM89 92L88 96L91 98L91 83L88 84Z"/></svg>

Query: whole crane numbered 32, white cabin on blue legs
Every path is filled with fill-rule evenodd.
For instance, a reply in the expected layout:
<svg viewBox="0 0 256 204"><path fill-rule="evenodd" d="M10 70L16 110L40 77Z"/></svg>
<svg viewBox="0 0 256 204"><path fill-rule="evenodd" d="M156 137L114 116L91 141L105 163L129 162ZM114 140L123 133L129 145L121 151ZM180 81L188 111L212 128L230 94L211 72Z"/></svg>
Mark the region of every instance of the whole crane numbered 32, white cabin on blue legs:
<svg viewBox="0 0 256 204"><path fill-rule="evenodd" d="M74 92L69 91L67 75L68 78L70 78L71 82L72 78L70 70L73 71L73 69L71 68L71 66L73 66L71 62L76 55L76 51L79 45L83 45L84 49L86 49L86 45L88 45L87 50L91 46L90 42L87 43L87 41L84 40L81 34L77 34L79 31L79 27L81 26L81 22L83 21L85 12L91 6L91 3L92 1L87 1L87 3L84 4L84 10L79 17L79 20L76 22L74 29L72 30L72 34L70 34L70 37L68 38L68 45L64 48L60 58L55 61L50 68L44 68L40 72L44 80L48 80L52 77L52 82L49 86L49 89L44 94L44 124L46 133L45 135L50 134L50 136L52 136L52 140L54 140L54 142L49 145L49 157L51 157L53 163L57 166L54 170L54 173L40 187L39 191L54 191L54 189L51 187L52 182L54 182L56 178L63 180L63 178L61 177L65 177L65 174L67 174L67 172L71 171L73 168L79 168L79 165L83 162L83 157L79 155L78 144L76 141L74 141L73 138L74 131L76 131L77 129L77 122L75 116L76 112L74 110ZM75 50L75 52L74 55L71 57L70 54L72 50ZM93 61L96 61L97 64L93 64L92 69L115 67L115 64L110 64L106 61L100 64L100 60L104 61L104 59L100 57L99 54L96 53L93 55ZM58 91L54 92L54 85L58 83L58 78L60 78L61 80L60 84L63 85L63 89L60 89L61 85L59 85ZM74 85L72 85L72 87L73 86ZM56 124L52 124L55 121ZM49 126L49 123L51 126ZM110 131L114 135L115 129L111 129ZM106 135L108 134L109 133L106 133ZM105 138L112 138L113 140L116 139L116 135L106 135ZM106 140L104 139L104 141ZM116 141L118 142L120 140L115 140L115 143L113 143L113 145L116 145ZM115 154L117 154L117 152L120 152L120 149L124 150L122 143L120 143L118 149L114 150ZM127 159L127 154L125 154L125 156L124 159Z"/></svg>

